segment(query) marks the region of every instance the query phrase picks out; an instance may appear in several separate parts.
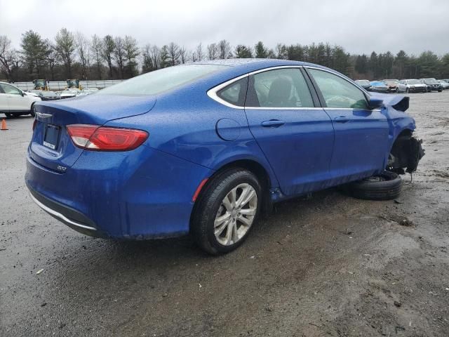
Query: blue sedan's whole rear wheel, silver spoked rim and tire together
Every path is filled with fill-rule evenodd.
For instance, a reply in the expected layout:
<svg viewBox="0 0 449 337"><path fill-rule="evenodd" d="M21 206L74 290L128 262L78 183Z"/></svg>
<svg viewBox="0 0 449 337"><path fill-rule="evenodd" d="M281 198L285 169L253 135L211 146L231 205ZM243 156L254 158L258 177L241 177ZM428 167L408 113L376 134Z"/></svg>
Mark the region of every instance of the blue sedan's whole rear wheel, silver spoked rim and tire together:
<svg viewBox="0 0 449 337"><path fill-rule="evenodd" d="M194 209L191 230L204 251L228 253L248 237L259 216L262 187L245 169L232 169L213 178Z"/></svg>

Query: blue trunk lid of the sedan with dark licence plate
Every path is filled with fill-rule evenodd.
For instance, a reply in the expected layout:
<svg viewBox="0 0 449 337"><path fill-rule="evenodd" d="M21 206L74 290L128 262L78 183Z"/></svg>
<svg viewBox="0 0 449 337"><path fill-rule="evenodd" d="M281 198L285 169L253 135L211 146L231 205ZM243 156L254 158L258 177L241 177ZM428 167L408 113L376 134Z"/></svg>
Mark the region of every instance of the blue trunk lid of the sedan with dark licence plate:
<svg viewBox="0 0 449 337"><path fill-rule="evenodd" d="M156 99L149 96L112 95L86 95L57 103L36 103L36 125L29 145L29 157L47 169L64 173L83 152L72 143L67 125L101 126L112 119L145 114L155 103Z"/></svg>

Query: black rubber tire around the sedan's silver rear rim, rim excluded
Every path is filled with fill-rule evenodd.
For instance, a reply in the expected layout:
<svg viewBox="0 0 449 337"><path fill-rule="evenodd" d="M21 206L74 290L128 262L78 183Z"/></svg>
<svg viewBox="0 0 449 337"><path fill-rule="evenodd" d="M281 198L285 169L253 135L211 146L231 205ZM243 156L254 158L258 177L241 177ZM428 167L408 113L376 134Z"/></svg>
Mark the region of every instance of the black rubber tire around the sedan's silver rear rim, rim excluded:
<svg viewBox="0 0 449 337"><path fill-rule="evenodd" d="M234 187L247 183L254 188L257 194L257 209L248 232L239 239L238 242L224 246L217 241L214 234L214 222L222 200ZM190 224L190 232L196 244L203 251L212 255L228 253L240 246L248 237L248 234L255 226L262 207L262 186L257 177L250 171L241 168L229 169L218 173L208 181L196 199L194 213Z"/></svg>

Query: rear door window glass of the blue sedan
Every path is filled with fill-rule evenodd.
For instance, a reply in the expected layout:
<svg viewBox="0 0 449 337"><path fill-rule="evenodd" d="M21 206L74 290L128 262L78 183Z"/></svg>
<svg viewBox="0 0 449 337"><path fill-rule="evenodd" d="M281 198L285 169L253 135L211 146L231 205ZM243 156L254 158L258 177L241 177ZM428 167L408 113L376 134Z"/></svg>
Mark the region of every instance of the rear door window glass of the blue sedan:
<svg viewBox="0 0 449 337"><path fill-rule="evenodd" d="M250 76L246 107L314 107L309 87L297 68Z"/></svg>

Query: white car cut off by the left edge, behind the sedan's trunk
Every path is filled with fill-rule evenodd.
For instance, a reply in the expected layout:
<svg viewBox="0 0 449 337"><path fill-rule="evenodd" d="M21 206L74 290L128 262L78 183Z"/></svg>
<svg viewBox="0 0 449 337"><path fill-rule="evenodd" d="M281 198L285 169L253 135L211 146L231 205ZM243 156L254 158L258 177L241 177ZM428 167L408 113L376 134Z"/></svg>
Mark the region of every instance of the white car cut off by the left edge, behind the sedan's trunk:
<svg viewBox="0 0 449 337"><path fill-rule="evenodd" d="M34 103L40 100L41 98L35 93L25 93L16 86L0 82L0 112L3 112L6 117L21 114L34 116Z"/></svg>

